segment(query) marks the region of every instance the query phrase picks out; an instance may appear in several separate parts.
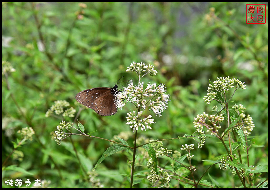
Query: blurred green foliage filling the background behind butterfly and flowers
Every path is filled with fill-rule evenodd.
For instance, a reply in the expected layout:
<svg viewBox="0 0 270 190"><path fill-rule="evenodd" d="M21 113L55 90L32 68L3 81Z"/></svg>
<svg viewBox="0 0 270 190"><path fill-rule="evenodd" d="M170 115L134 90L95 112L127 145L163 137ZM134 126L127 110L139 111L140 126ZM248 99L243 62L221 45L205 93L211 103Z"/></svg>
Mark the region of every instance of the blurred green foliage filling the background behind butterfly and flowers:
<svg viewBox="0 0 270 190"><path fill-rule="evenodd" d="M158 74L143 80L165 84L171 95L163 116L154 117L154 128L139 131L139 137L163 139L192 134L196 114L211 113L211 107L216 105L203 102L209 79L235 77L245 82L247 89L237 91L232 105L243 104L247 108L246 113L255 124L251 133L254 142L264 145L250 149L250 163L268 165L268 20L266 24L246 24L246 3L86 5L82 8L78 3L2 3L2 60L16 69L8 76L10 90L2 75L2 163L14 148L12 142L21 138L17 134L19 129L30 126L35 131L32 141L17 148L23 152L23 159L11 156L6 163L5 166L15 166L2 171L3 187L7 187L4 181L16 178L29 178L32 183L36 178L46 179L51 181L49 187L95 186L96 183L85 180L83 171L92 171L111 144L72 136L82 169L70 139L58 146L52 138L62 118L46 118L45 113L56 100L66 100L79 111L80 106L74 105L77 92L112 87L121 76L137 82L136 75L125 72L132 61L153 64ZM125 117L133 108L126 105L109 117L84 109L78 119L86 132L97 130L91 134L94 136L113 139L127 132L127 142L132 145L134 136ZM73 119L64 118L70 122ZM225 126L221 131L224 129ZM164 147L178 151L185 143L194 141L163 142ZM225 153L217 139L207 138L203 148L195 148L193 154L198 179L209 164L201 160L214 160ZM244 154L242 157L246 161ZM143 157L139 154L138 159ZM97 167L96 178L104 187L129 187L126 175L130 175L130 160L132 154L125 151L106 158ZM167 163L164 159L160 162ZM149 187L145 177L149 170L137 166L136 171L140 183L135 186ZM241 185L230 171L217 166L209 174L223 187ZM267 176L264 173L261 177ZM204 179L211 181L208 175ZM178 181L170 184L179 186Z"/></svg>

